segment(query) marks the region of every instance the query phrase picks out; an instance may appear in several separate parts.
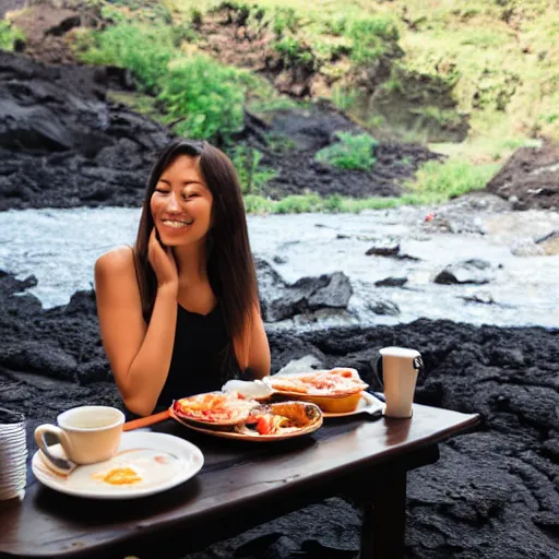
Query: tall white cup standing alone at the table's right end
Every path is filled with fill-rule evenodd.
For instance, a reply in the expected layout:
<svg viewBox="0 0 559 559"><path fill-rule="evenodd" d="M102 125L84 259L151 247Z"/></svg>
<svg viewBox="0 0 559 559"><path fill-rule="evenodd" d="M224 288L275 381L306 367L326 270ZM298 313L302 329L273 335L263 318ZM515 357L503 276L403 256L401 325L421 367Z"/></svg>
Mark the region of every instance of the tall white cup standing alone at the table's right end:
<svg viewBox="0 0 559 559"><path fill-rule="evenodd" d="M384 416L407 418L413 414L417 373L423 369L421 354L407 347L383 347L382 377L386 409Z"/></svg>

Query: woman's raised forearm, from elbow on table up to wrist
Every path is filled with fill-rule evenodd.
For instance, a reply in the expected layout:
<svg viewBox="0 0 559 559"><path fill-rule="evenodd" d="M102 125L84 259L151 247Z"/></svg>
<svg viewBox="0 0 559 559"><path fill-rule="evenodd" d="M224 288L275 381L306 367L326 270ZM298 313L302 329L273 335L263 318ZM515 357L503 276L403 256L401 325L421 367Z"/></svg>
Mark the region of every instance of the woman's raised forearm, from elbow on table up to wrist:
<svg viewBox="0 0 559 559"><path fill-rule="evenodd" d="M157 289L150 324L121 388L127 407L138 415L152 413L169 372L177 326L177 290Z"/></svg>

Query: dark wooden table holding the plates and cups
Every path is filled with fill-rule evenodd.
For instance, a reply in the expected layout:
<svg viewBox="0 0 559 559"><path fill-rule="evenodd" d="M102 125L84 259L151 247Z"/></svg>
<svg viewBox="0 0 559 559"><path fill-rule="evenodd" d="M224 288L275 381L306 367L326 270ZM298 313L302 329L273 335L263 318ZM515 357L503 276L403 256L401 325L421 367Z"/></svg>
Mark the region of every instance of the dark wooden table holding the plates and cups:
<svg viewBox="0 0 559 559"><path fill-rule="evenodd" d="M180 557L347 495L364 507L361 559L402 558L406 473L436 462L438 442L479 416L414 405L412 419L367 417L326 419L310 436L275 443L217 439L167 420L153 430L197 444L205 459L199 475L129 501L70 497L32 477L23 501L0 510L0 557Z"/></svg>

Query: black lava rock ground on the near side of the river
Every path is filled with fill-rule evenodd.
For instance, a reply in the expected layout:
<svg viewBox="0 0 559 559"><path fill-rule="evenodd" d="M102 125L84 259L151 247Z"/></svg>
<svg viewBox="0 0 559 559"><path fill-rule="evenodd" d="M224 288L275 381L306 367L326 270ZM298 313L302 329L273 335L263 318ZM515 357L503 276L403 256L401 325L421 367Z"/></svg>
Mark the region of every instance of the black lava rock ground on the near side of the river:
<svg viewBox="0 0 559 559"><path fill-rule="evenodd" d="M78 293L68 306L44 311L34 296L21 295L29 282L5 273L0 278L0 405L24 411L29 435L74 405L119 406L98 336L94 294ZM437 464L409 475L408 558L557 558L558 330L418 320L269 335L274 372L312 356L316 366L356 367L377 389L371 361L378 349L416 347L426 365L416 401L481 414L480 429L442 444ZM31 437L28 443L35 450ZM275 535L262 538L266 534ZM190 559L285 559L306 539L356 548L358 512L344 499L333 499ZM246 549L258 551L239 555L249 542ZM320 555L309 551L308 557Z"/></svg>

